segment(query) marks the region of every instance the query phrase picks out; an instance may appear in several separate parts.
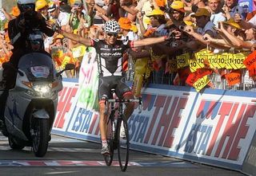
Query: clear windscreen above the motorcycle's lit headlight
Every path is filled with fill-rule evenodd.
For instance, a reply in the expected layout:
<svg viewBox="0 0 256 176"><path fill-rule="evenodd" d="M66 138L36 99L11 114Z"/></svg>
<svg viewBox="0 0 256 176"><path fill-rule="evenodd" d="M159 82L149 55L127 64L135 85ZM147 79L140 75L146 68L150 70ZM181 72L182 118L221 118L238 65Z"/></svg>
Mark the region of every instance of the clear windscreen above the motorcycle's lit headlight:
<svg viewBox="0 0 256 176"><path fill-rule="evenodd" d="M56 69L52 58L44 53L28 53L21 57L18 68L30 81L54 80Z"/></svg>

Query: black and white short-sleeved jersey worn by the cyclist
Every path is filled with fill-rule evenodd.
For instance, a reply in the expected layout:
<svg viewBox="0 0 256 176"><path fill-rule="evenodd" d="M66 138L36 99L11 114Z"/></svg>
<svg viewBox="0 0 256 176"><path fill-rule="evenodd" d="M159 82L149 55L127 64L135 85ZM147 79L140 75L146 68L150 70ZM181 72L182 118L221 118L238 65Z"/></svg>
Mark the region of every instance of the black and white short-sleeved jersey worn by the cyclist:
<svg viewBox="0 0 256 176"><path fill-rule="evenodd" d="M118 40L114 45L107 45L105 40L92 40L91 45L98 54L99 76L123 76L122 57L133 44L133 41Z"/></svg>

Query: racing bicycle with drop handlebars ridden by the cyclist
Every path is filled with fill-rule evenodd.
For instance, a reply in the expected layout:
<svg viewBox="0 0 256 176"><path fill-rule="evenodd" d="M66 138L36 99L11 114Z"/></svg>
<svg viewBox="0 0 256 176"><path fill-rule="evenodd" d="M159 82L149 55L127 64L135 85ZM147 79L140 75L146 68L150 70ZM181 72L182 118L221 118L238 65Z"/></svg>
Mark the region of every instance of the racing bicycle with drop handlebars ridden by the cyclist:
<svg viewBox="0 0 256 176"><path fill-rule="evenodd" d="M129 129L126 117L124 115L124 107L126 103L136 102L138 103L139 113L142 111L142 98L138 99L128 99L120 100L118 98L114 99L114 89L111 89L110 99L106 99L105 113L107 113L107 143L110 147L110 154L104 155L104 159L107 166L111 166L114 151L118 150L118 162L121 170L124 172L127 169L129 162ZM110 113L109 113L110 111Z"/></svg>

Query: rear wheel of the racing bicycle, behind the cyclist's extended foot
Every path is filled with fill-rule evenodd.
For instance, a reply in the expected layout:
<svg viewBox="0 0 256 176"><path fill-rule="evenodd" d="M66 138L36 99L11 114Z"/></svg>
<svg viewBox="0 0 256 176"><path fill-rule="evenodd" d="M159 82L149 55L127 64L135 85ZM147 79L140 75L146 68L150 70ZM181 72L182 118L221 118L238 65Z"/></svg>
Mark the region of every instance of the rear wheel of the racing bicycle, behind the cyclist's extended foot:
<svg viewBox="0 0 256 176"><path fill-rule="evenodd" d="M113 121L111 117L107 122L107 132L106 132L106 140L110 147L110 154L103 155L104 160L106 162L106 166L111 166L113 157L114 157L114 136L113 136Z"/></svg>

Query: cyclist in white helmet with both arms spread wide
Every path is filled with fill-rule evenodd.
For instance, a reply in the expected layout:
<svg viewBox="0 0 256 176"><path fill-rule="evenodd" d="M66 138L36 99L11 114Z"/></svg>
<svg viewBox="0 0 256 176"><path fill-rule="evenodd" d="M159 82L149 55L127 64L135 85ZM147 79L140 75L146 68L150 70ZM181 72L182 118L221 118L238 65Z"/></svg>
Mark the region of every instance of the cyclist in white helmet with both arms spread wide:
<svg viewBox="0 0 256 176"><path fill-rule="evenodd" d="M104 39L83 38L74 33L67 33L62 29L57 30L65 37L71 40L78 41L87 46L93 46L98 54L98 69L99 69L99 115L100 115L100 133L102 139L102 154L110 154L110 148L106 142L106 120L105 100L110 97L111 88L115 88L116 94L120 99L133 99L133 93L125 84L125 72L122 70L122 56L126 49L153 45L169 39L169 37L149 37L138 41L118 40L120 26L116 21L107 21L104 25ZM134 103L126 104L125 116L126 119L134 111Z"/></svg>

